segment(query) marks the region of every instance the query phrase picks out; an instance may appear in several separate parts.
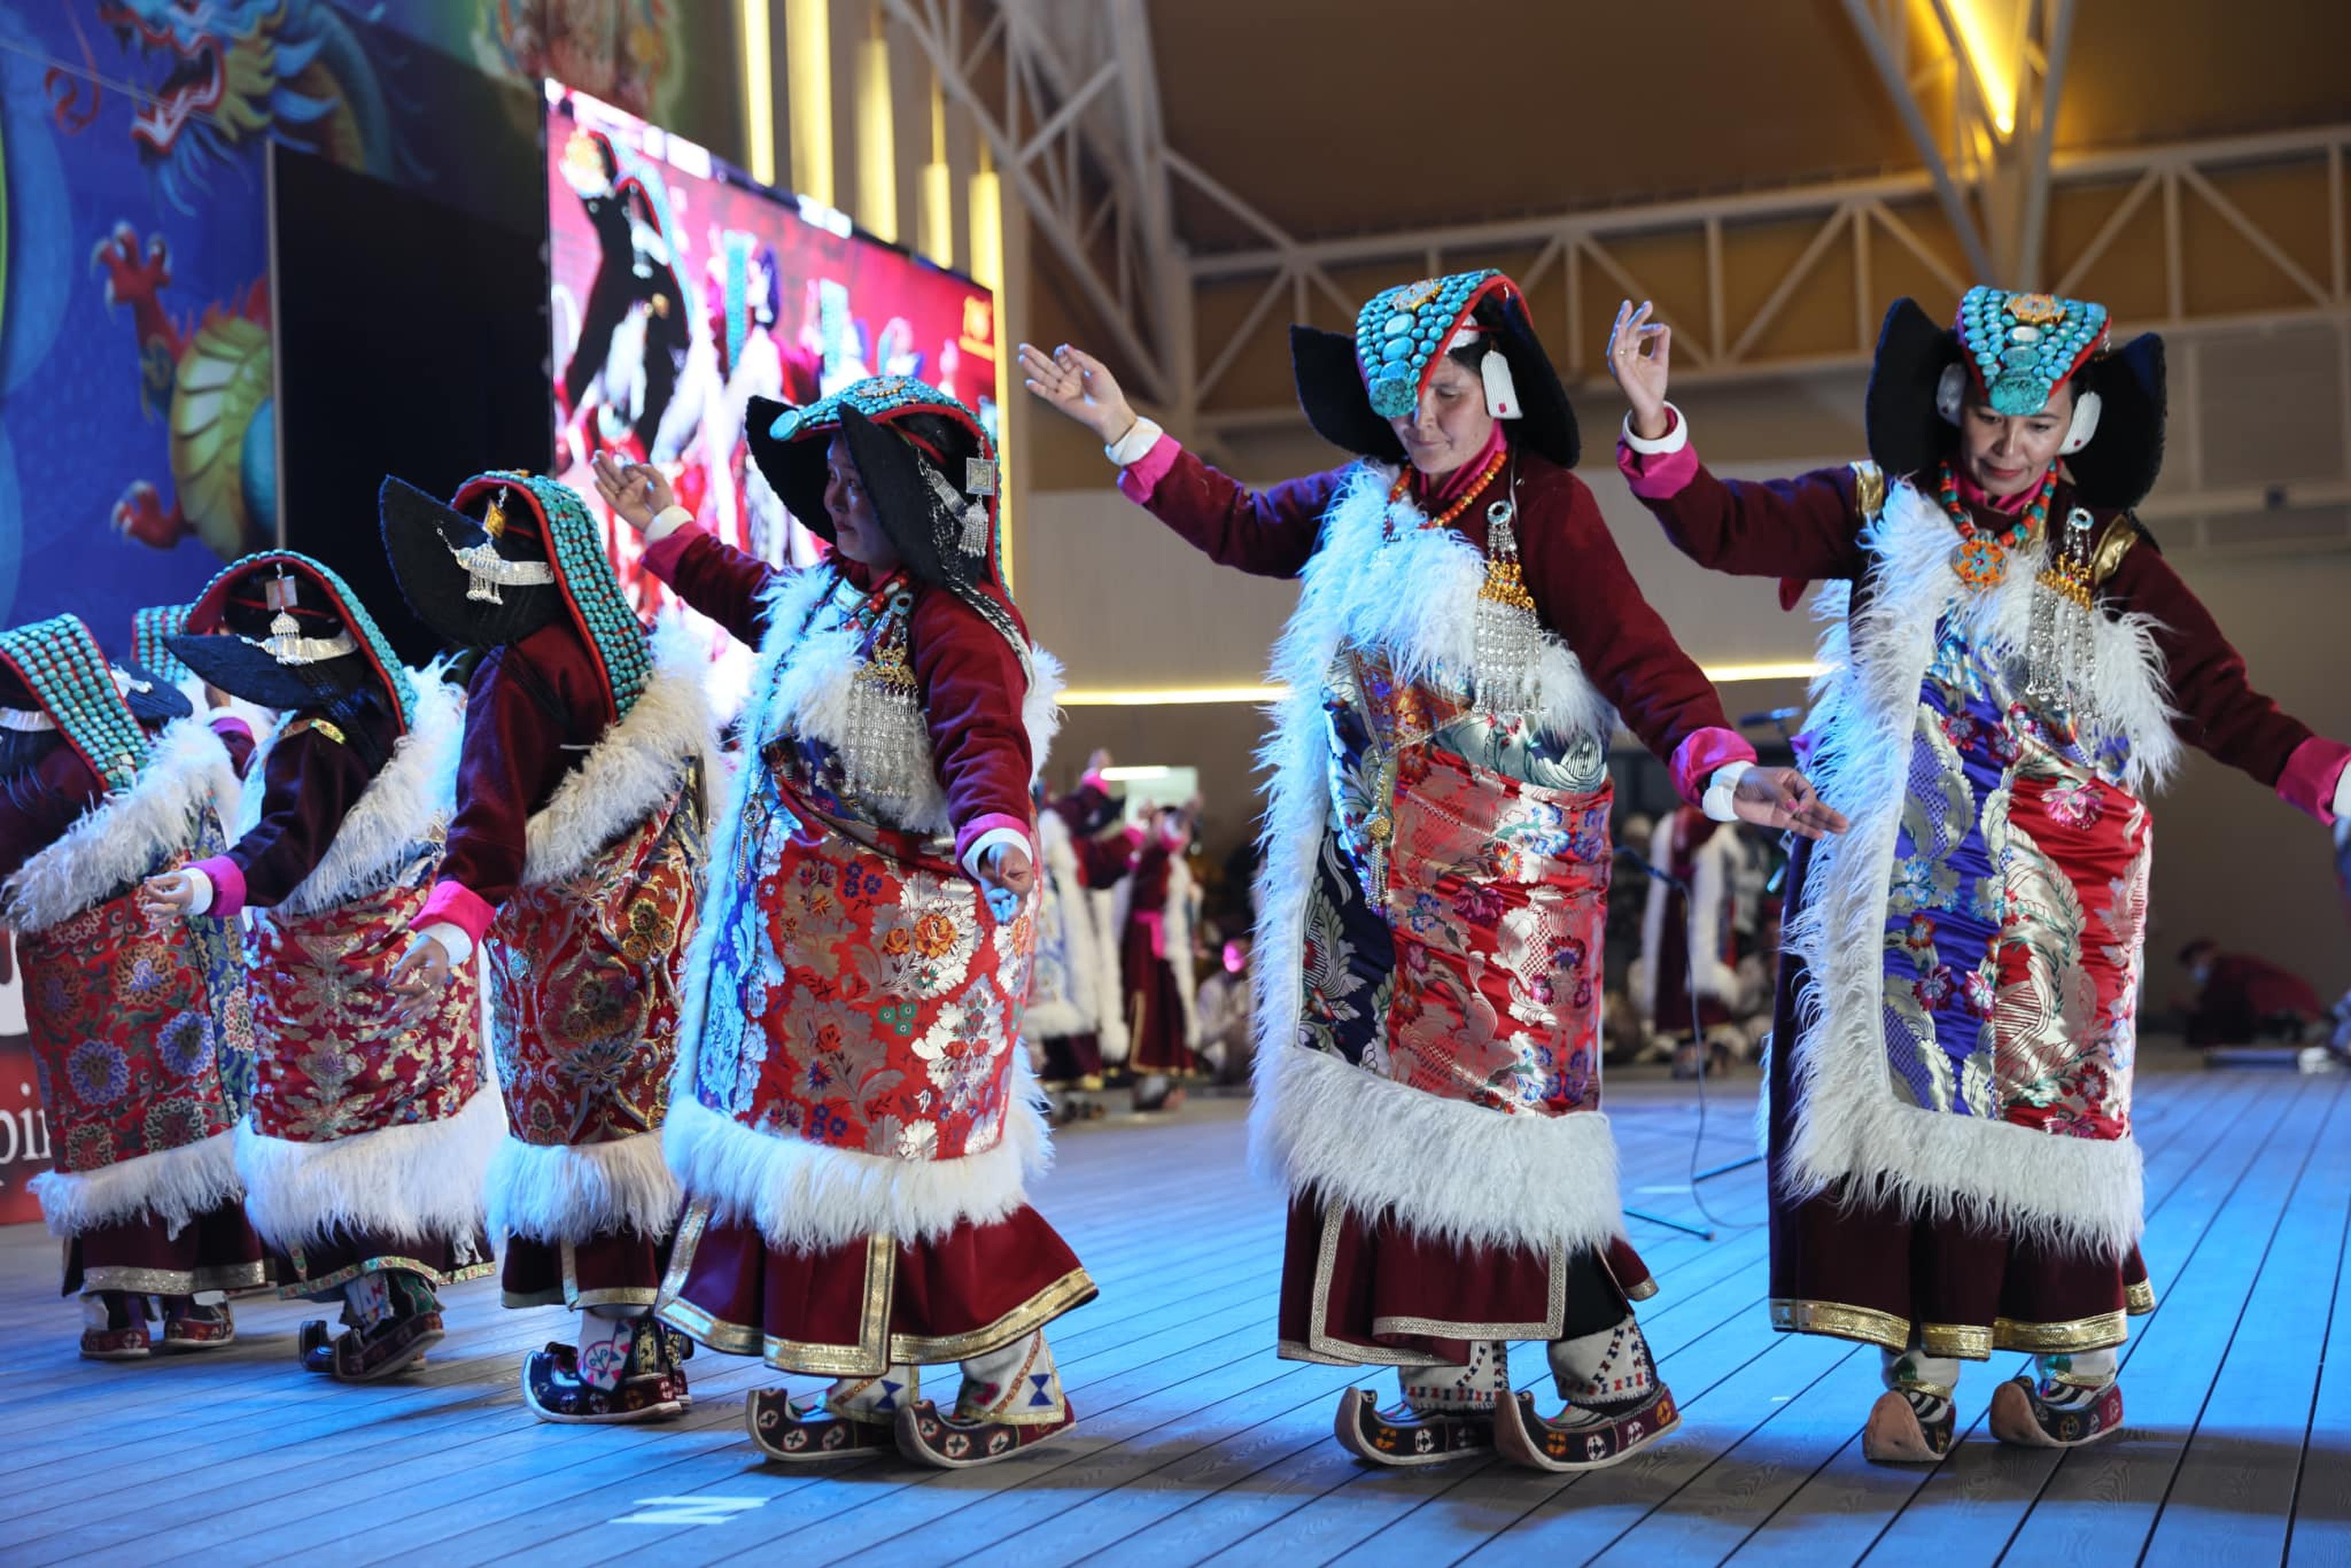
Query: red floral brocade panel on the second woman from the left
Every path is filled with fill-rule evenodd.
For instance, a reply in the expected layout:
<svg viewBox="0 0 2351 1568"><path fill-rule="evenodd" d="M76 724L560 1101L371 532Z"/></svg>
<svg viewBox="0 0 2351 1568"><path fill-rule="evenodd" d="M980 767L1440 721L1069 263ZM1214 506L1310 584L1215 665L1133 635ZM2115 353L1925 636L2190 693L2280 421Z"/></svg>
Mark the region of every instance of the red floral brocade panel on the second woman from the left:
<svg viewBox="0 0 2351 1568"><path fill-rule="evenodd" d="M393 966L407 952L440 846L400 879L317 914L256 910L245 938L254 980L254 1128L331 1143L444 1121L482 1086L482 992L458 964L418 1027L395 1018Z"/></svg>

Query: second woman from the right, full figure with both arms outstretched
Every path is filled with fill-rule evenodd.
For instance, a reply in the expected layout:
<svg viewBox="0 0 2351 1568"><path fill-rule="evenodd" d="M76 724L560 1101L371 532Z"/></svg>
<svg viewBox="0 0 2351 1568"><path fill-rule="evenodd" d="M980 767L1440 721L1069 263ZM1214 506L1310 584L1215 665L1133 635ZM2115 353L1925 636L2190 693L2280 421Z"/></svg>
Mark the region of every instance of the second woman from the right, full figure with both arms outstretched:
<svg viewBox="0 0 2351 1568"><path fill-rule="evenodd" d="M1375 296L1352 339L1291 329L1312 425L1359 461L1248 491L1136 418L1072 348L1020 348L1119 489L1213 559L1302 578L1255 947L1260 1152L1291 1190L1281 1354L1394 1366L1338 1436L1382 1465L1500 1443L1613 1465L1679 1415L1632 1302L1599 1110L1606 750L1617 715L1686 799L1808 832L1625 569L1575 416L1500 273ZM1542 1340L1566 1410L1509 1394Z"/></svg>

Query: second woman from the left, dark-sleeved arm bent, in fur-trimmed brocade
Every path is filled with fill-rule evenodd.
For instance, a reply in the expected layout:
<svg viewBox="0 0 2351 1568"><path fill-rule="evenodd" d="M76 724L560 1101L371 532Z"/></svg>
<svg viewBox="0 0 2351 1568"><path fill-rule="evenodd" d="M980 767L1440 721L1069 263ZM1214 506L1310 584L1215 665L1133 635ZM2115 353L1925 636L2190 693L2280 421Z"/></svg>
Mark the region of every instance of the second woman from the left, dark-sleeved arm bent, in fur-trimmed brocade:
<svg viewBox="0 0 2351 1568"><path fill-rule="evenodd" d="M390 992L433 889L456 783L458 693L400 665L329 567L263 550L223 569L172 651L277 710L237 842L148 882L158 919L245 910L259 1084L237 1128L245 1206L303 1324L303 1366L369 1382L442 1338L442 1286L487 1274L482 1173L498 1095L482 1084L468 969L418 1018Z"/></svg>

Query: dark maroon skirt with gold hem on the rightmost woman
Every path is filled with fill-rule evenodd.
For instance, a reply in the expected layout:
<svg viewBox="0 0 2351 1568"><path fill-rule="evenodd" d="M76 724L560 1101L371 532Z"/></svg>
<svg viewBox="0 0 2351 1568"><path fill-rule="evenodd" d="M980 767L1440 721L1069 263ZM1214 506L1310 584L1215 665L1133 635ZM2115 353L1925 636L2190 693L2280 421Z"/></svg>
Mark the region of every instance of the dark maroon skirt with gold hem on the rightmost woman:
<svg viewBox="0 0 2351 1568"><path fill-rule="evenodd" d="M1789 863L1789 907L1803 896L1810 846ZM1803 961L1780 954L1773 1039L1796 1039ZM1789 1197L1780 1164L1796 1131L1801 1084L1791 1051L1770 1053L1770 1321L1886 1349L1984 1361L1996 1349L2071 1354L2128 1338L2156 1309L2139 1248L2123 1258L2052 1248L1963 1220L1907 1218L1857 1201L1846 1182Z"/></svg>

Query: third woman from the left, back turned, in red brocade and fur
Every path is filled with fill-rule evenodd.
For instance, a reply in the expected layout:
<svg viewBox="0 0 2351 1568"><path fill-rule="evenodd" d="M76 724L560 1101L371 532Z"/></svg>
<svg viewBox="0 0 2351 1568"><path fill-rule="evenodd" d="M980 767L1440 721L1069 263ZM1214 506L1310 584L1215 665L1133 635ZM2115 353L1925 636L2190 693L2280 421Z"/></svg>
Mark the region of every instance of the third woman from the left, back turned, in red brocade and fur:
<svg viewBox="0 0 2351 1568"><path fill-rule="evenodd" d="M682 966L703 872L708 651L647 637L576 491L487 473L449 505L383 484L383 543L416 616L487 649L456 820L395 990L426 1006L480 947L505 1143L489 1222L508 1307L581 1314L522 1366L541 1420L686 1408L691 1347L651 1321L679 1194L661 1152Z"/></svg>

